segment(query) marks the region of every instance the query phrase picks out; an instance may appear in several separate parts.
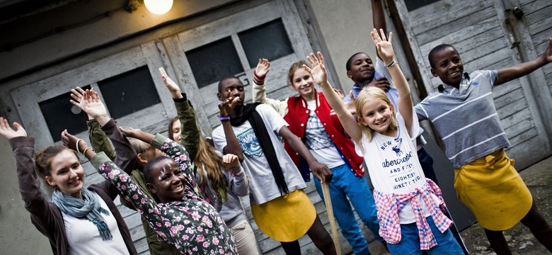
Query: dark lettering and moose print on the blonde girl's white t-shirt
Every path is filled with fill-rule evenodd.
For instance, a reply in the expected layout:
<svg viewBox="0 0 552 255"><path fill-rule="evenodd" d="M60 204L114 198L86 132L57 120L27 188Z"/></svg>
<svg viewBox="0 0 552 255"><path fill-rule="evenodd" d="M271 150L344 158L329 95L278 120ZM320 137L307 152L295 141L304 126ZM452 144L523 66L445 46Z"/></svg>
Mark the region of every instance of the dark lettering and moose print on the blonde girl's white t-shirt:
<svg viewBox="0 0 552 255"><path fill-rule="evenodd" d="M381 166L386 171L389 181L393 183L392 187L397 193L402 193L407 187L414 185L418 181L422 181L422 177L415 171L413 164L413 152L408 150L408 147L403 146L403 141L387 140L382 142L379 149L384 155L384 160ZM411 188L408 188L411 190Z"/></svg>

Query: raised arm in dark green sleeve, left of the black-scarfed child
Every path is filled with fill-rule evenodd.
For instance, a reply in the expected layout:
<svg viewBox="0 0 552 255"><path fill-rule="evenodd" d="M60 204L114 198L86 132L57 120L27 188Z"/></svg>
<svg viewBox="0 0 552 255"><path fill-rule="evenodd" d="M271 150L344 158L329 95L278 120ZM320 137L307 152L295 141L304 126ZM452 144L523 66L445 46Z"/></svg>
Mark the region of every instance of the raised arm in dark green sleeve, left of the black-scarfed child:
<svg viewBox="0 0 552 255"><path fill-rule="evenodd" d="M170 77L168 77L163 67L159 68L161 79L167 86L169 92L173 96L174 106L180 120L180 144L184 146L190 160L193 162L200 141L200 128L197 125L195 111L185 93L180 91L180 87Z"/></svg>

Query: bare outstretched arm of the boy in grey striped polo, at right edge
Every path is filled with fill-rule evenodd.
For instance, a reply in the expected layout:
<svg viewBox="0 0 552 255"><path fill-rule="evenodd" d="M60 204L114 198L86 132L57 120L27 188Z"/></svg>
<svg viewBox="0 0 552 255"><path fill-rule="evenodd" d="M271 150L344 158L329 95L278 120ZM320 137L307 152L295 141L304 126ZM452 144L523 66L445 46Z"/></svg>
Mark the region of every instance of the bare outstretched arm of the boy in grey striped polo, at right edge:
<svg viewBox="0 0 552 255"><path fill-rule="evenodd" d="M544 53L539 57L536 57L535 60L517 64L514 67L499 69L495 86L530 74L550 62L552 62L552 38L548 39L548 47L546 47Z"/></svg>

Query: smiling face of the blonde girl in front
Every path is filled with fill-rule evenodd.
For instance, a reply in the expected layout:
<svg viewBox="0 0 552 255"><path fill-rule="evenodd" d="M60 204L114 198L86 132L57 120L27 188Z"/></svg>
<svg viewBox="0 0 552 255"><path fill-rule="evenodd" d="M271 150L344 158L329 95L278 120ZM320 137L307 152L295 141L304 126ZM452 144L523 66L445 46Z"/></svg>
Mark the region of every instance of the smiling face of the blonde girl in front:
<svg viewBox="0 0 552 255"><path fill-rule="evenodd" d="M393 106L380 98L371 98L364 103L358 121L374 132L387 136L395 135L396 130L389 128L393 123Z"/></svg>

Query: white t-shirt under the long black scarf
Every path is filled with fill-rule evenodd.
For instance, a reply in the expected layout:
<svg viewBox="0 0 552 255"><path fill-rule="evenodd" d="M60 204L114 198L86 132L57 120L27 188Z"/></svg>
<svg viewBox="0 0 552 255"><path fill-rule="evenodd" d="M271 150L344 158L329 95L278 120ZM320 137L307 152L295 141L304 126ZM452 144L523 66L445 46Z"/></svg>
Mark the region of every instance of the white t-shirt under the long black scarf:
<svg viewBox="0 0 552 255"><path fill-rule="evenodd" d="M299 173L299 169L295 166L292 159L287 154L280 140L280 128L287 126L287 122L280 116L272 106L266 104L260 104L255 108L255 111L259 113L263 118L265 128L270 135L270 140L274 146L278 162L282 168L287 188L289 192L297 189L306 188L305 181ZM259 141L251 128L251 123L246 120L242 125L238 127L232 127L234 135L238 138L241 150L243 151L242 166L249 177L249 198L252 204L266 203L272 199L282 196L272 170L268 165L268 161L263 153L263 149L260 148ZM212 133L214 147L222 152L226 147L226 136L224 135L224 128L219 125Z"/></svg>

